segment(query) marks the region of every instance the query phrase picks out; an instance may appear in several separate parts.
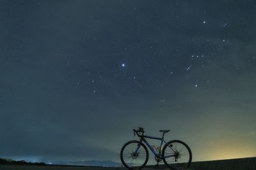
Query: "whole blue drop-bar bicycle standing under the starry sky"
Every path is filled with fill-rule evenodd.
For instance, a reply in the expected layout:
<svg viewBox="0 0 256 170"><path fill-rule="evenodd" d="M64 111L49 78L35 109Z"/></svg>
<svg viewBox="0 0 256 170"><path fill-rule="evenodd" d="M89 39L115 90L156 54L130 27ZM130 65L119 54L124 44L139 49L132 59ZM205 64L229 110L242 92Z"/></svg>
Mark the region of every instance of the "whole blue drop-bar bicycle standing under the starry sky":
<svg viewBox="0 0 256 170"><path fill-rule="evenodd" d="M140 141L132 140L125 143L120 152L120 159L122 164L130 170L141 169L146 166L148 162L148 148L154 153L157 161L157 166L163 160L166 167L172 170L183 170L189 167L192 160L192 153L186 143L179 140L172 140L166 143L164 141L164 134L170 130L161 130L163 132L162 138L144 135L144 129L139 127L137 130L133 129L134 136L140 138ZM156 139L161 141L161 145L151 146L145 138ZM145 143L145 144L144 144ZM165 145L163 146L163 143ZM156 151L155 151L156 150Z"/></svg>

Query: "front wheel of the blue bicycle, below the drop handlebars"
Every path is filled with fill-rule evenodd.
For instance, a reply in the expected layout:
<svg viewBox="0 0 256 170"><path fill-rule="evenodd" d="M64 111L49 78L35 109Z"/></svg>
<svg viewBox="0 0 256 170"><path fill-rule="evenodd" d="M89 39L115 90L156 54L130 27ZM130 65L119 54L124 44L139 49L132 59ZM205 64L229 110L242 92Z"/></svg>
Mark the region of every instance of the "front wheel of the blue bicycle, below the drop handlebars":
<svg viewBox="0 0 256 170"><path fill-rule="evenodd" d="M148 150L140 141L129 141L122 147L120 159L128 169L141 169L148 162Z"/></svg>

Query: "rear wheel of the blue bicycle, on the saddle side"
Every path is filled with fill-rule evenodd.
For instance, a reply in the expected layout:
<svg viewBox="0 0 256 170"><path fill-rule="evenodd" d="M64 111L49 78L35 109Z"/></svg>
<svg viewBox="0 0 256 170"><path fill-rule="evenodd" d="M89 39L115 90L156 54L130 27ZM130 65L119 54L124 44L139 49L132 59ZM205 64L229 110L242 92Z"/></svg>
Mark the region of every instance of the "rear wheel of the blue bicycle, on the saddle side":
<svg viewBox="0 0 256 170"><path fill-rule="evenodd" d="M191 163L192 153L186 143L173 140L164 145L162 157L164 164L170 169L183 170Z"/></svg>

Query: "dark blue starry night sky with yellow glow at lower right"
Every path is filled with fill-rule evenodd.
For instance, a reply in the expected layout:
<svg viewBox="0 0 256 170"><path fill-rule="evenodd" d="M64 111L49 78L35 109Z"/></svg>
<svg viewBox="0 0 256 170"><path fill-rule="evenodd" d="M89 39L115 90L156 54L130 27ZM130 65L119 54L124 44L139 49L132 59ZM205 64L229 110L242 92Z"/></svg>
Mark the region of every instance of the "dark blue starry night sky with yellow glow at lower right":
<svg viewBox="0 0 256 170"><path fill-rule="evenodd" d="M138 126L255 157L255 111L256 1L0 1L0 157L120 162Z"/></svg>

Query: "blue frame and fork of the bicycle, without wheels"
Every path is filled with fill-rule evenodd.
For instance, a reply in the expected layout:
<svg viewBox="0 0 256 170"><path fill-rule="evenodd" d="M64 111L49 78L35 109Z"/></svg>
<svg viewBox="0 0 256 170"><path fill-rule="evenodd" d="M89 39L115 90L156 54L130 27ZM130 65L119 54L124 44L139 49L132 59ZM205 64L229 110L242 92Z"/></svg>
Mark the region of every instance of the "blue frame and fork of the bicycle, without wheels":
<svg viewBox="0 0 256 170"><path fill-rule="evenodd" d="M166 157L161 157L161 155L158 155L158 153L156 153L154 151L154 148L152 148L152 146L148 143L148 141L145 139L145 138L149 138L149 139L156 139L156 140L159 140L161 141L161 145L160 145L160 148L162 148L163 146L163 143L166 144L166 141L164 141L164 134L163 134L163 137L162 138L158 138L158 137L154 137L154 136L147 136L147 135L142 135L140 136L140 143L138 145L138 147L136 148L136 151L135 153L138 153L139 149L140 149L140 144L142 143L142 141L148 146L148 148L151 150L151 152L154 153L154 155L159 158L159 159L165 159L165 158L168 158L168 157L175 157L175 155L168 155Z"/></svg>

